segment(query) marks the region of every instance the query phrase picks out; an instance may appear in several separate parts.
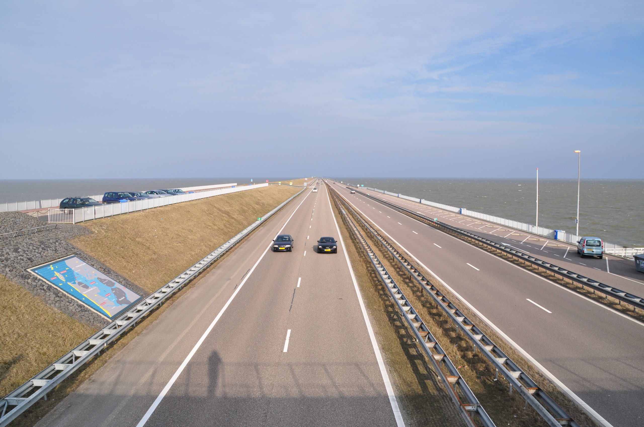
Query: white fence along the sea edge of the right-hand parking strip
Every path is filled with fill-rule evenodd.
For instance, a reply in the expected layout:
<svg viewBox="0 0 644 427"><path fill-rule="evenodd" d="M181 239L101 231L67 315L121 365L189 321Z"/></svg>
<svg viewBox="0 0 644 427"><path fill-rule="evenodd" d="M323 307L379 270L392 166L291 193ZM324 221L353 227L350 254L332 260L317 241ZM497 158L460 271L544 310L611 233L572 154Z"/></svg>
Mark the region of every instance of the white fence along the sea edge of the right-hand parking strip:
<svg viewBox="0 0 644 427"><path fill-rule="evenodd" d="M428 206L433 206L435 208L439 208L442 210L448 210L450 212L460 213L461 215L482 219L483 221L488 221L489 223L499 224L502 226L506 226L508 228L515 228L516 230L521 230L527 233L541 235L544 237L548 237L549 239L556 239L570 244L577 244L577 241L580 239L580 236L572 233L566 233L563 230L551 230L550 228L537 227L532 224L521 223L520 221L512 221L511 219L495 217L494 215L488 215L487 213L475 212L473 210L468 210L466 208L457 208L455 206L450 206L448 204L430 202L428 200L419 199L418 197L410 197L404 194L392 193L385 190L378 190L377 188L371 188L371 187L365 187L365 188L371 191L377 191L383 194L393 195L394 197L400 197L401 199L414 201L416 203L427 204ZM644 253L644 248L628 248L627 246L622 246L621 244L604 242L604 251L605 253L611 253L613 255L619 255L620 257L632 259L633 255Z"/></svg>

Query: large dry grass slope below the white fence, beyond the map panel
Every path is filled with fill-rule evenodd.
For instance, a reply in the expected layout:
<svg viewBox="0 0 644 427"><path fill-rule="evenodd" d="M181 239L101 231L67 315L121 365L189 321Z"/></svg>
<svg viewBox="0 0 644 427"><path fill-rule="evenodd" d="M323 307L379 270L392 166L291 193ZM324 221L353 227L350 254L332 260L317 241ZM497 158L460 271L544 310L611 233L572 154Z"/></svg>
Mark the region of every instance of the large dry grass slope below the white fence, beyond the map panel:
<svg viewBox="0 0 644 427"><path fill-rule="evenodd" d="M71 243L151 292L299 190L270 185L96 219Z"/></svg>

